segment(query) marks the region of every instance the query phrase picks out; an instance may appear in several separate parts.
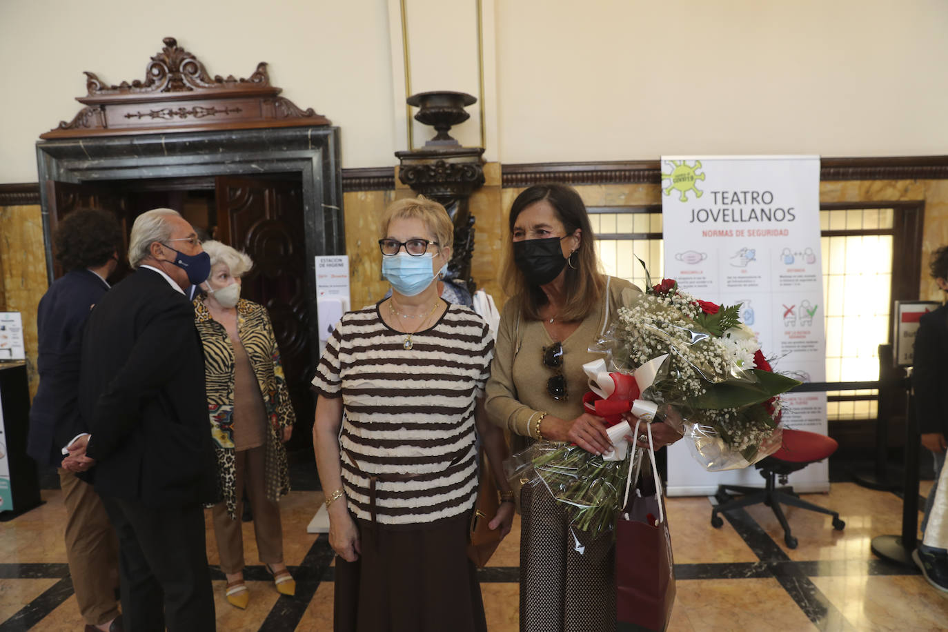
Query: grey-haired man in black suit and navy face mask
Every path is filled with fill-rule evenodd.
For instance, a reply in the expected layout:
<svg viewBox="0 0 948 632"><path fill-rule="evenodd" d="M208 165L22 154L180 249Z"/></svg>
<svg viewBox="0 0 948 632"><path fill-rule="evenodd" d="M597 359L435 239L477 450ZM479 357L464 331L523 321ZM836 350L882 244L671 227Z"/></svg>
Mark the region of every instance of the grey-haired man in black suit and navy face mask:
<svg viewBox="0 0 948 632"><path fill-rule="evenodd" d="M201 341L189 284L210 258L176 211L135 221L136 272L102 297L82 337L80 409L91 435L64 465L94 465L118 533L130 630L214 629L202 504L216 496Z"/></svg>

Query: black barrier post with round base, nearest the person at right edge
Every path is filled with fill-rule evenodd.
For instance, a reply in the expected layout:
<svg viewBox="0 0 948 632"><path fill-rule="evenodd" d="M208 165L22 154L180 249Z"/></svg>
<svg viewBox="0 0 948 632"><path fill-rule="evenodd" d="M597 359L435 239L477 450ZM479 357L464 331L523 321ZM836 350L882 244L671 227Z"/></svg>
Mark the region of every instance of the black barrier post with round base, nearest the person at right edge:
<svg viewBox="0 0 948 632"><path fill-rule="evenodd" d="M908 402L905 405L905 469L902 486L902 535L872 538L871 549L887 562L915 569L912 551L918 546L919 531L919 422L915 418L915 395L911 376L905 378Z"/></svg>

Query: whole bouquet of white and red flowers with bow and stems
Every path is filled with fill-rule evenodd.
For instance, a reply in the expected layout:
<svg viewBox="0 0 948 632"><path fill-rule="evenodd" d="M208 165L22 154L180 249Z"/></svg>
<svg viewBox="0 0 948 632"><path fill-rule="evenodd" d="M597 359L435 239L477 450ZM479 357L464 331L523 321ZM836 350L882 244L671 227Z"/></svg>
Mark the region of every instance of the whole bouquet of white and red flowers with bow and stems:
<svg viewBox="0 0 948 632"><path fill-rule="evenodd" d="M592 389L584 406L610 426L613 452L537 442L511 460L512 477L531 478L532 471L564 503L577 549L611 530L622 509L639 453L627 456L623 437L634 428L624 413L676 427L709 471L747 467L779 448L779 394L799 382L773 372L739 308L699 300L668 279L629 297L591 348L604 359L583 368Z"/></svg>

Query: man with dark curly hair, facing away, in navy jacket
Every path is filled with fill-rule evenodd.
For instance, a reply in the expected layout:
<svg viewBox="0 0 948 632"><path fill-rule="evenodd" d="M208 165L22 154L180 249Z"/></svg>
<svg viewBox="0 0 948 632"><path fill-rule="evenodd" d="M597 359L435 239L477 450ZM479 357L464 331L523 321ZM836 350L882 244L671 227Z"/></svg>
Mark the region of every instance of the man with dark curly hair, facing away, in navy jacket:
<svg viewBox="0 0 948 632"><path fill-rule="evenodd" d="M115 216L94 208L69 213L53 235L55 256L65 274L40 299L40 386L29 410L27 440L27 453L42 465L59 466L64 448L87 432L79 413L82 328L109 289L106 279L118 265L121 242ZM66 508L66 557L85 630L119 632L115 529L91 484L63 467L59 476Z"/></svg>

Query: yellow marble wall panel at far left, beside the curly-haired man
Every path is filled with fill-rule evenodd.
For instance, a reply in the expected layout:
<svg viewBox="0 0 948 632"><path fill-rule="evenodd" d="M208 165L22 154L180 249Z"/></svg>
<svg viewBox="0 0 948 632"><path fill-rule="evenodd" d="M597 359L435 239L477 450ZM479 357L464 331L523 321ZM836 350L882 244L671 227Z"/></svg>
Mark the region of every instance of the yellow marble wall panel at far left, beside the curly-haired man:
<svg viewBox="0 0 948 632"><path fill-rule="evenodd" d="M39 206L0 207L0 267L6 311L20 312L30 396L36 393L36 306L46 293L46 247Z"/></svg>

